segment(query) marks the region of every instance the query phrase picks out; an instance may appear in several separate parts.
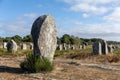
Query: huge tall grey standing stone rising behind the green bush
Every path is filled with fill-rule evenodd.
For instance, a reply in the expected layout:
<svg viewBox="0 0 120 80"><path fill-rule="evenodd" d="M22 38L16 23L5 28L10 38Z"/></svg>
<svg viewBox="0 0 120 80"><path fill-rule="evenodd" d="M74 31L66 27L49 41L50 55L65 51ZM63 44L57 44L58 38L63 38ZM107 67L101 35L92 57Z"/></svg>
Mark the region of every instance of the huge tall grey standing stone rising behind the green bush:
<svg viewBox="0 0 120 80"><path fill-rule="evenodd" d="M51 15L42 15L35 20L31 30L34 55L53 61L57 46L57 31Z"/></svg>

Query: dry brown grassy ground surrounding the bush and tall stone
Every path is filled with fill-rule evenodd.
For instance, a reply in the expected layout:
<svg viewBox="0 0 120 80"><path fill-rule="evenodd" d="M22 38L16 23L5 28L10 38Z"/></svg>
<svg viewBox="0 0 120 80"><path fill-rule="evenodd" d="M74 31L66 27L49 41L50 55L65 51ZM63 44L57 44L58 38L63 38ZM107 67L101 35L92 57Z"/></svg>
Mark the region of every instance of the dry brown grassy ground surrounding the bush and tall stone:
<svg viewBox="0 0 120 80"><path fill-rule="evenodd" d="M92 47L83 50L56 51L54 69L48 73L29 74L20 68L20 63L31 50L9 53L0 49L0 79L2 80L119 80L120 71L102 69L98 67L82 66L85 64L98 64L120 66L120 49L113 54L93 55ZM79 64L78 64L79 63ZM4 68L5 67L5 68Z"/></svg>

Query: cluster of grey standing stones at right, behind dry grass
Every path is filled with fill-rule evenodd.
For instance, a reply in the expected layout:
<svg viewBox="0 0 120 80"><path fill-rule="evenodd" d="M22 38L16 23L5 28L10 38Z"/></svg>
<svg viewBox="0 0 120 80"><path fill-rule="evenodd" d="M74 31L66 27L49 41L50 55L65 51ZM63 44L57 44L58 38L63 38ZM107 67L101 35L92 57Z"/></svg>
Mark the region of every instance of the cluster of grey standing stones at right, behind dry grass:
<svg viewBox="0 0 120 80"><path fill-rule="evenodd" d="M108 45L105 40L102 42L94 42L93 43L93 54L95 55L102 55L102 54L108 54L113 53L113 51L119 48L117 45Z"/></svg>

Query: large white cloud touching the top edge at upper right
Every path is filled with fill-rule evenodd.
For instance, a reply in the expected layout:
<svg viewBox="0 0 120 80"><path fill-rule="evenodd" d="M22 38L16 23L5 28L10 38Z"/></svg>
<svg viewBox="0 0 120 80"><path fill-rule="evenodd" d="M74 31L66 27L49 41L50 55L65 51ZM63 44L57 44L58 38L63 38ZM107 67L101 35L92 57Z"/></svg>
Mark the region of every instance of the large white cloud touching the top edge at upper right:
<svg viewBox="0 0 120 80"><path fill-rule="evenodd" d="M74 12L87 13L89 16L105 15L120 5L120 0L61 0L69 4ZM83 16L86 18L85 16Z"/></svg>

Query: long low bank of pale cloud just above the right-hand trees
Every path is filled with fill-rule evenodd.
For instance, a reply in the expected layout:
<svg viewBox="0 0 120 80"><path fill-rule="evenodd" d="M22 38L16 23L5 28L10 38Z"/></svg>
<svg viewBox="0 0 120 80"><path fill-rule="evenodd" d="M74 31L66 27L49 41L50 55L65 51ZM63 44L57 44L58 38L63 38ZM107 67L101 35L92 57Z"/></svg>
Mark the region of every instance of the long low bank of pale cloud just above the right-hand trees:
<svg viewBox="0 0 120 80"><path fill-rule="evenodd" d="M114 27L113 27L114 26ZM79 24L70 28L59 28L59 35L65 33L79 36L80 38L103 38L106 40L120 41L120 24Z"/></svg>

